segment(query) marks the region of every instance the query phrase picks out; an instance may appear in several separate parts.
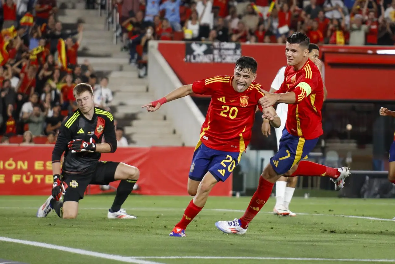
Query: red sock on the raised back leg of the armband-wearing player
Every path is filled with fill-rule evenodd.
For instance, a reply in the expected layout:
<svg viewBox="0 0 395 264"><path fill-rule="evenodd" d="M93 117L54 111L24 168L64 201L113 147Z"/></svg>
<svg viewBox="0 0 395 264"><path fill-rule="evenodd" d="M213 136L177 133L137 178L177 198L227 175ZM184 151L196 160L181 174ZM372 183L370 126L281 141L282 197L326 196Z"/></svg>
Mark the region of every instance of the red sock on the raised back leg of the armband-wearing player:
<svg viewBox="0 0 395 264"><path fill-rule="evenodd" d="M327 176L337 179L340 176L340 171L325 165L302 160L299 162L296 171L291 175L291 177L295 176Z"/></svg>

